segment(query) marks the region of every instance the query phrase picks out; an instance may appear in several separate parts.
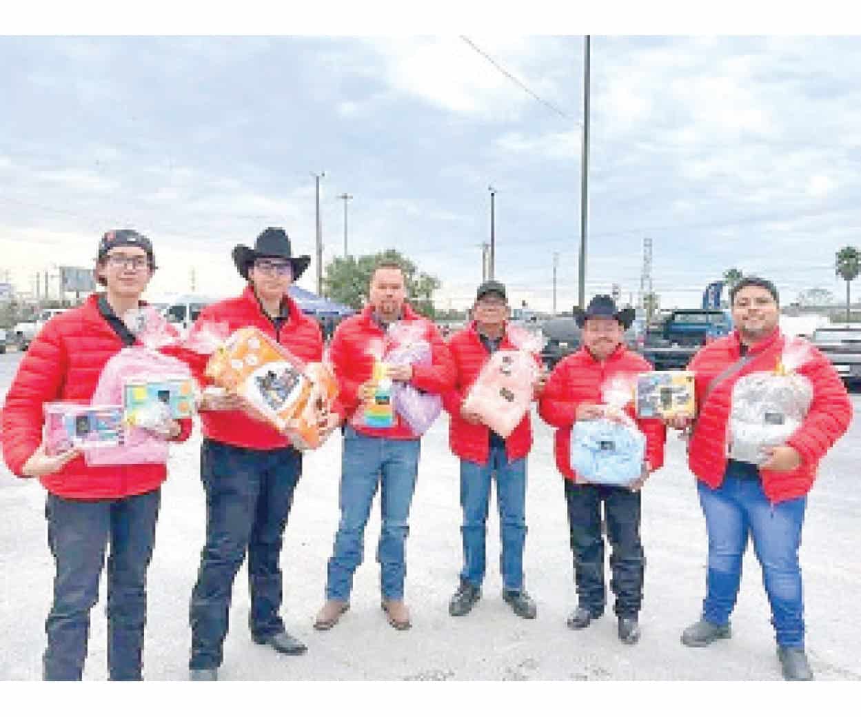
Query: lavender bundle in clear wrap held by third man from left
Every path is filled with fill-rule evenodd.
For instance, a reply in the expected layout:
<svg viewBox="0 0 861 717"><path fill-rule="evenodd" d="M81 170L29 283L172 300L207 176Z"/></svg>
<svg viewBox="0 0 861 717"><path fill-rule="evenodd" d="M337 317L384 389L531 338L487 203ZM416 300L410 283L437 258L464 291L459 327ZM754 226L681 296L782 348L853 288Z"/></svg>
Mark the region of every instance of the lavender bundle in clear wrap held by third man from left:
<svg viewBox="0 0 861 717"><path fill-rule="evenodd" d="M430 366L433 360L431 344L424 339L424 326L418 321L399 321L388 327L392 343L386 355L390 364ZM394 381L392 405L397 414L409 424L416 436L422 436L443 411L443 399L425 393L405 381Z"/></svg>

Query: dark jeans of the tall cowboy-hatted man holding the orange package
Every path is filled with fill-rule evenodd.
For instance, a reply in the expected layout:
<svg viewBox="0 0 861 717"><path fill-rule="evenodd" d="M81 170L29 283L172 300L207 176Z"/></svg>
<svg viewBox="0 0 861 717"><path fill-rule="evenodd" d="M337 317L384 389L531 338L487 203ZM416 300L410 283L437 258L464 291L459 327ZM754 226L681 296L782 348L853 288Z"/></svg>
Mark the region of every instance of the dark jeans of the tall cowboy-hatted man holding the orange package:
<svg viewBox="0 0 861 717"><path fill-rule="evenodd" d="M251 634L264 638L283 631L282 536L301 470L302 454L294 448L255 450L203 440L207 542L191 594L189 669L221 664L233 578L246 552Z"/></svg>

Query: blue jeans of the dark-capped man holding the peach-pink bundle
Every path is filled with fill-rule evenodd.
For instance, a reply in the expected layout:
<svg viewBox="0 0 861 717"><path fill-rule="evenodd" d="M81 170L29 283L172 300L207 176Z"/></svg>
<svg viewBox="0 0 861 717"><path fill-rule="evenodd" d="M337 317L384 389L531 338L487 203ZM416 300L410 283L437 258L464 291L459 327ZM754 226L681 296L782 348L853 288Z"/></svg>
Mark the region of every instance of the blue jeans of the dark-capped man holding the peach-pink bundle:
<svg viewBox="0 0 861 717"><path fill-rule="evenodd" d="M526 459L509 462L505 446L492 447L481 466L461 460L463 570L461 580L480 587L485 576L485 536L491 477L496 474L499 507L499 572L505 590L523 589L523 545L526 542Z"/></svg>

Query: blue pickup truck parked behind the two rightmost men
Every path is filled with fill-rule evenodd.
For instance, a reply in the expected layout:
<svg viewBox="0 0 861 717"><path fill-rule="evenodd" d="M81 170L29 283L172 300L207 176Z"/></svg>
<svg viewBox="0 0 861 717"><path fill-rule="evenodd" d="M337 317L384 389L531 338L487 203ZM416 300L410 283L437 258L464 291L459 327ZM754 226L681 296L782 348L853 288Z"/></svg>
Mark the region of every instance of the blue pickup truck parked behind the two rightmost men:
<svg viewBox="0 0 861 717"><path fill-rule="evenodd" d="M726 336L732 327L722 309L676 309L658 331L647 332L641 352L657 371L684 368L703 344Z"/></svg>

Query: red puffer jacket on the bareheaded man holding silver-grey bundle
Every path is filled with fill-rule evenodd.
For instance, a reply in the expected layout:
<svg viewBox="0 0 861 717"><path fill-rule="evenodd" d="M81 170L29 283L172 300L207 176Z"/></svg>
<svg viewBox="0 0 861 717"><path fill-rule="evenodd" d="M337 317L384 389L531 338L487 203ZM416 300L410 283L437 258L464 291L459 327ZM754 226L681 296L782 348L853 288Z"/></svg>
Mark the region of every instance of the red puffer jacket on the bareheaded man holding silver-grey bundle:
<svg viewBox="0 0 861 717"><path fill-rule="evenodd" d="M735 382L754 371L773 371L783 353L786 338L778 329L770 337L748 349L753 358L737 374L720 381L709 393L705 405L703 394L711 380L741 357L738 331L722 337L697 351L688 368L696 372L697 426L691 436L688 464L691 471L711 488L723 482L727 470L727 422ZM787 441L802 457L794 471L776 473L760 471L765 496L778 503L806 495L816 478L819 461L837 439L846 433L852 420L852 403L846 386L837 372L813 346L812 358L802 363L798 373L813 385L813 402L807 417Z"/></svg>

